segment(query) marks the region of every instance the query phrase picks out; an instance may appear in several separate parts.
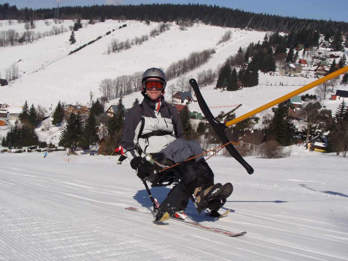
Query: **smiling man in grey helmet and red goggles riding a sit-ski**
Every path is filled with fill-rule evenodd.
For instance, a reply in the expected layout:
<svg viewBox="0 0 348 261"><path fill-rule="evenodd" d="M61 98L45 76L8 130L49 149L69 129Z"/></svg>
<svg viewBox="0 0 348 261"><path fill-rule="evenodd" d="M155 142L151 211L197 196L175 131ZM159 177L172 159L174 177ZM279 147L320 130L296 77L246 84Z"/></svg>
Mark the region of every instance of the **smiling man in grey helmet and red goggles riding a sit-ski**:
<svg viewBox="0 0 348 261"><path fill-rule="evenodd" d="M144 100L126 113L120 144L137 176L145 179L150 175L152 166L143 157L149 153L163 153L167 161L176 164L203 151L198 142L183 139L179 114L173 105L165 103L165 73L158 68L150 68L143 73L141 83ZM198 206L204 209L204 203L209 198L227 198L233 191L231 183L223 186L214 184L214 174L203 156L184 161L176 167L184 184L179 183L169 192L158 213L168 212L175 216L176 212L185 211L190 194L195 195Z"/></svg>

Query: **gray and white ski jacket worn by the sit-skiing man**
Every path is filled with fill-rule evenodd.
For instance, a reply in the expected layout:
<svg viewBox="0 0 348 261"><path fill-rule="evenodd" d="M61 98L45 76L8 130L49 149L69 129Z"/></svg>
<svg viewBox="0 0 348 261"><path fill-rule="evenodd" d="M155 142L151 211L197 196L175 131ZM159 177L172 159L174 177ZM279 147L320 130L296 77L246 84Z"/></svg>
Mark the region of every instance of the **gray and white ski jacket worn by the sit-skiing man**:
<svg viewBox="0 0 348 261"><path fill-rule="evenodd" d="M129 161L137 156L144 157L145 154L159 152L175 139L183 138L183 128L179 114L173 105L165 103L164 97L156 102L150 101L145 97L141 104L144 108L144 128L141 135L149 137L140 137L138 140L142 125L142 112L140 105L135 105L126 113L121 140L121 146L124 148ZM172 116L169 114L168 109ZM177 136L175 136L172 121L175 121ZM151 133L154 131L168 132L168 134L152 136ZM137 144L143 151L141 155L137 151Z"/></svg>

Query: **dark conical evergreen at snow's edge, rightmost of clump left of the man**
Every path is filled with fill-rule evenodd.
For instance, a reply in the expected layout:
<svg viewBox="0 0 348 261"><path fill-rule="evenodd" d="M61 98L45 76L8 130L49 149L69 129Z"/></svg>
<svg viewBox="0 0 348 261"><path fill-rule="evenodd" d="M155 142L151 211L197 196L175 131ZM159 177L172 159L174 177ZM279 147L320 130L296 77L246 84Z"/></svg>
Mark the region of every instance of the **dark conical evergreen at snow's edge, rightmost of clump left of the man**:
<svg viewBox="0 0 348 261"><path fill-rule="evenodd" d="M87 149L87 153L89 153L89 146L95 145L98 141L99 136L97 122L94 115L89 113L82 129L82 134L79 139L79 146Z"/></svg>

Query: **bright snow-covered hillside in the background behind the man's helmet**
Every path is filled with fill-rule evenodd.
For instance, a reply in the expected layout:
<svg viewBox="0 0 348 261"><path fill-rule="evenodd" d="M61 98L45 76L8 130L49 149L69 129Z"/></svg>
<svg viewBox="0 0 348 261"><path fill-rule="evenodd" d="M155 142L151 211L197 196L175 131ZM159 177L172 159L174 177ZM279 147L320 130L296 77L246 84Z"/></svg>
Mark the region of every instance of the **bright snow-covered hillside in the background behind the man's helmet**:
<svg viewBox="0 0 348 261"><path fill-rule="evenodd" d="M133 74L144 71L151 66L166 69L171 63L188 57L191 52L199 52L207 48L215 48L216 53L199 68L183 75L186 78L195 78L197 73L213 69L222 64L226 58L237 52L239 47L246 47L250 42L262 41L266 32L244 31L240 29L222 28L195 24L181 31L175 23L170 30L150 38L138 46L132 46L128 50L106 55L108 44L113 38L119 41L140 37L150 34L158 24L151 23L150 26L137 21L118 22L107 20L105 23L96 23L85 26L87 21L82 21L84 27L75 32L77 43L70 45L70 30L52 36L46 36L34 40L30 44L1 47L0 78L5 75L5 70L15 63L18 65L19 79L10 81L8 86L0 87L0 103L9 104L10 113L19 113L25 101L31 105L40 105L48 108L56 106L58 101L66 104L77 102L86 105L90 101L90 92L94 98L100 97L99 84L106 78L114 79L124 74ZM35 33L51 30L52 26L69 28L73 21L65 20L62 24L45 25L44 21L37 21ZM118 29L119 26L127 24L126 27ZM16 32L25 31L24 24L8 25L2 21L1 31L14 29ZM115 31L112 31L115 29ZM216 45L221 36L227 31L232 31L231 41ZM109 35L106 32L111 31ZM80 51L68 55L70 51L87 44L88 42L102 36L93 44L87 45ZM311 75L311 74L309 74ZM224 92L214 90L213 85L201 89L208 106L224 106L243 104L237 111L240 116L250 110L266 104L275 98L283 96L314 78L285 77L279 75L259 74L259 86L246 88L237 92ZM175 84L177 79L168 82L168 86ZM283 86L279 86L280 83ZM339 89L348 89L345 86L337 86ZM334 90L335 91L335 90ZM314 94L314 90L309 91ZM167 99L170 97L166 95ZM135 98L142 100L140 92L127 95L124 98L126 108L132 106ZM106 106L117 103L118 99L111 100ZM335 111L340 101L325 100L325 105ZM197 103L191 103L191 111L200 112ZM220 111L228 109L212 109L217 115ZM48 112L52 112L49 111ZM0 135L4 135L1 131Z"/></svg>

